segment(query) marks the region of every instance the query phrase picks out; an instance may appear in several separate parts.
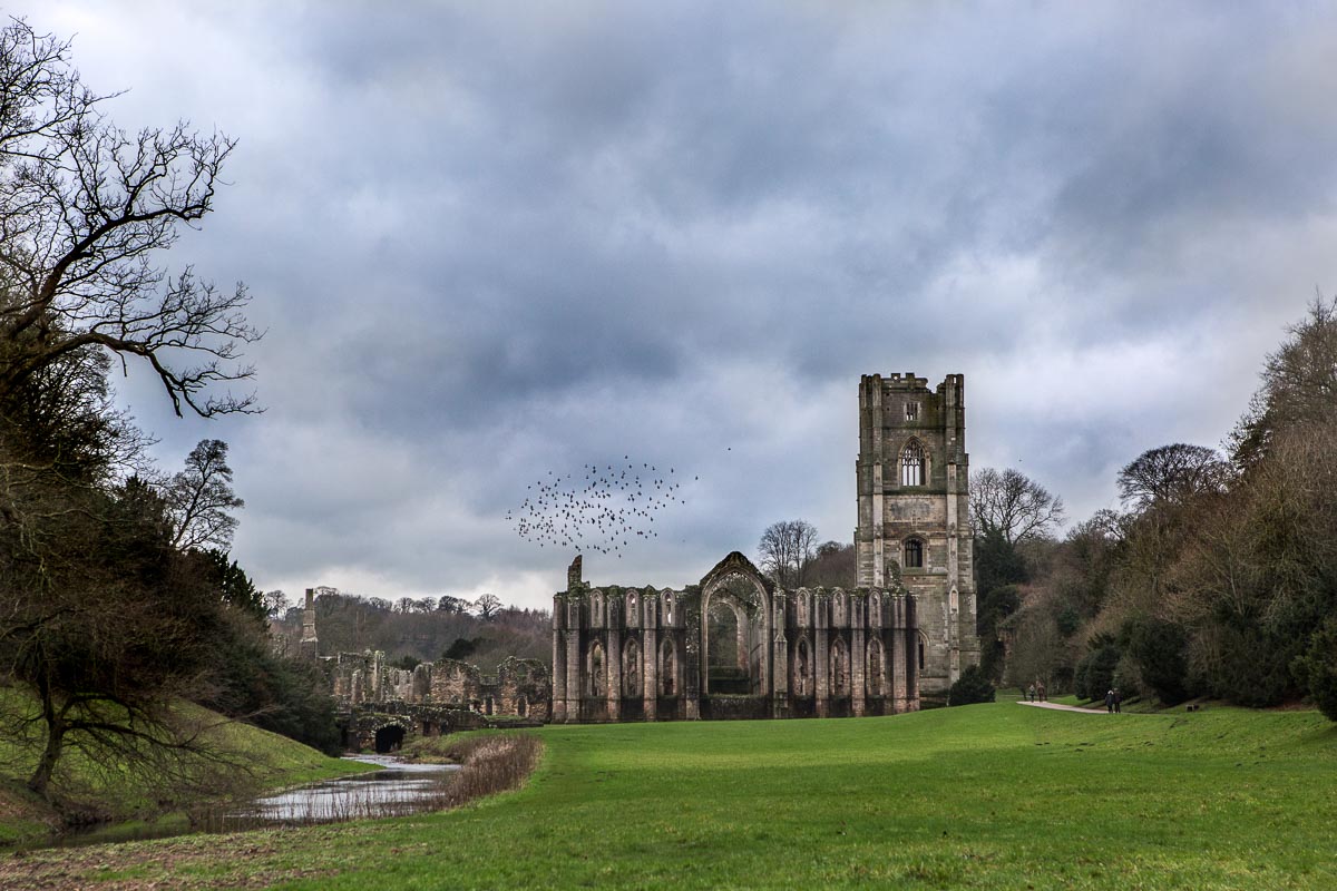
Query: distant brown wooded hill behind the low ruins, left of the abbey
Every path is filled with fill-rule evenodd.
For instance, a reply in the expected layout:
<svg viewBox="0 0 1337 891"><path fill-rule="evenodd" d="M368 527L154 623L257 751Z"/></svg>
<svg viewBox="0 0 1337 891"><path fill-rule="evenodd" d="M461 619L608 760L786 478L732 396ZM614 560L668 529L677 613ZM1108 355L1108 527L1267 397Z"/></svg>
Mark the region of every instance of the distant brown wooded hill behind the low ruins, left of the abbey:
<svg viewBox="0 0 1337 891"><path fill-rule="evenodd" d="M552 613L505 606L493 594L459 597L358 597L333 588L317 589L316 629L322 656L381 651L401 665L459 659L484 672L508 656L552 661ZM297 652L302 610L289 609L274 622L286 652Z"/></svg>

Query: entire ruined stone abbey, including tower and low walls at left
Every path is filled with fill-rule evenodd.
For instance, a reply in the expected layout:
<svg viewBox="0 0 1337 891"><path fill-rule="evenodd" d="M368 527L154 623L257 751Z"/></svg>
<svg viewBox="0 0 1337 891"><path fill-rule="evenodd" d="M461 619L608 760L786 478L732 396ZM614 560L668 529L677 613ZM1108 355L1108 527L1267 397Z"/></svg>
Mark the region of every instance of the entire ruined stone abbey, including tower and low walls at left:
<svg viewBox="0 0 1337 891"><path fill-rule="evenodd" d="M350 743L377 748L492 717L555 723L857 717L941 700L979 661L965 381L864 375L850 589L785 590L730 553L697 585L591 585L576 556L552 600L552 671L381 653L325 657ZM302 651L316 656L308 592Z"/></svg>

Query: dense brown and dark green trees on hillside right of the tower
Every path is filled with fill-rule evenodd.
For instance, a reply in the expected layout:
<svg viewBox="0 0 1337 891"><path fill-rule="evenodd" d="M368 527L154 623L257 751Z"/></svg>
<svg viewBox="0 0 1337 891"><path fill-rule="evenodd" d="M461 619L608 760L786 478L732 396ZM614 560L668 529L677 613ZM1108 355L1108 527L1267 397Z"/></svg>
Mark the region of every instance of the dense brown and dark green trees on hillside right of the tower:
<svg viewBox="0 0 1337 891"><path fill-rule="evenodd" d="M972 478L995 680L1165 704L1308 697L1337 720L1337 301L1316 299L1261 378L1223 453L1135 457L1116 480L1123 510L1062 541L1044 525L1009 536L1009 502Z"/></svg>

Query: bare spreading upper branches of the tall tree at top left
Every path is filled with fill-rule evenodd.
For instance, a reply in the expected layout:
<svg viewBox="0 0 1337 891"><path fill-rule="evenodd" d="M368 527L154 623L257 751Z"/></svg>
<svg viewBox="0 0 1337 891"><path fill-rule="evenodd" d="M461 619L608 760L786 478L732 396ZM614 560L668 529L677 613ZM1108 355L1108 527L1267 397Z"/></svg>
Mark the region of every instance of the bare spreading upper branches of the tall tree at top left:
<svg viewBox="0 0 1337 891"><path fill-rule="evenodd" d="M84 87L70 43L23 20L0 28L0 395L95 347L148 363L178 414L254 409L214 395L250 378L239 345L258 339L249 297L154 255L214 203L234 140L186 123L130 136Z"/></svg>

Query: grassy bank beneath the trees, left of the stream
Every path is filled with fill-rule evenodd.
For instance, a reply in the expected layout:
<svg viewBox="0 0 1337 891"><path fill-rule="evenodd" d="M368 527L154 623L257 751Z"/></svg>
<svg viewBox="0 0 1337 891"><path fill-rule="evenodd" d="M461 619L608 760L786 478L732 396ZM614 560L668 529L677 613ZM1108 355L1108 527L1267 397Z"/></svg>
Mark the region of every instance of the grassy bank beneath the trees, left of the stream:
<svg viewBox="0 0 1337 891"><path fill-rule="evenodd" d="M7 704L13 705L15 693L4 691ZM262 787L295 785L330 776L370 769L368 765L326 757L313 748L247 724L222 723L195 705L182 705L193 717L206 723L219 721L211 731L217 745L230 757L250 765L251 776L225 773L222 784L259 784ZM39 749L36 745L19 747L0 740L0 846L36 843L60 826L56 815L44 801L24 785L32 772ZM88 801L88 808L106 812L116 819L156 816L154 799L160 789L139 777L115 771L90 771L83 755L71 748L62 759L57 788L64 795ZM134 831L132 827L127 827Z"/></svg>

